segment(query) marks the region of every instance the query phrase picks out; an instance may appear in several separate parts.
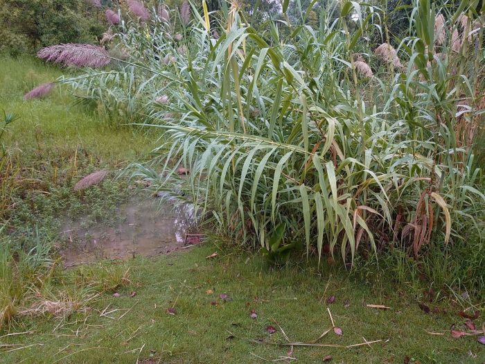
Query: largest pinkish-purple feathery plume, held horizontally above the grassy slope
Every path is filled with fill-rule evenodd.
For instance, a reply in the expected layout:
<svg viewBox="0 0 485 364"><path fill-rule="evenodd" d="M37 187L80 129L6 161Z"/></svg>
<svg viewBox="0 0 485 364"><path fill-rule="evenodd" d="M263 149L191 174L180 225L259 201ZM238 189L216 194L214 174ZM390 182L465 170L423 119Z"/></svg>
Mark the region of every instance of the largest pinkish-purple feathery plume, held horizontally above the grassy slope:
<svg viewBox="0 0 485 364"><path fill-rule="evenodd" d="M76 67L103 67L111 62L107 51L92 44L58 44L46 46L37 52L37 57L47 62Z"/></svg>

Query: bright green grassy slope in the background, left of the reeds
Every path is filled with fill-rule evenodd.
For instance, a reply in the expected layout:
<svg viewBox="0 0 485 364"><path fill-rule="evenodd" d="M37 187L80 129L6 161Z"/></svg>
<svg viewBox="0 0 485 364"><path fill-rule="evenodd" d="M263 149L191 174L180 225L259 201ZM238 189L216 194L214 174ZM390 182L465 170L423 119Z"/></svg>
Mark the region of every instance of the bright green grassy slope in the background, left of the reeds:
<svg viewBox="0 0 485 364"><path fill-rule="evenodd" d="M0 64L0 109L21 116L11 125L11 147L40 151L56 148L58 153L78 148L103 162L134 159L149 150L143 135L135 135L131 130L114 131L94 115L82 112L73 105L74 99L65 88L57 87L44 100L25 102L21 97L25 92L62 75L58 67L44 66L30 58L12 60L1 55Z"/></svg>

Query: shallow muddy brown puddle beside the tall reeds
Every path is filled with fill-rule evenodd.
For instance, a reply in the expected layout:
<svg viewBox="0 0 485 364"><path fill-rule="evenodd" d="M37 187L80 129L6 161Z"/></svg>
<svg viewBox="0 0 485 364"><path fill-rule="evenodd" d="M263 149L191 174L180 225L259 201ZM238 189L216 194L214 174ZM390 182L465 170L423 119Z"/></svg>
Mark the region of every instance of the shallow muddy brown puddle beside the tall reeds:
<svg viewBox="0 0 485 364"><path fill-rule="evenodd" d="M199 243L193 205L161 199L132 200L118 207L112 226L64 224L60 254L64 267L102 259L154 256ZM69 218L69 216L68 216Z"/></svg>

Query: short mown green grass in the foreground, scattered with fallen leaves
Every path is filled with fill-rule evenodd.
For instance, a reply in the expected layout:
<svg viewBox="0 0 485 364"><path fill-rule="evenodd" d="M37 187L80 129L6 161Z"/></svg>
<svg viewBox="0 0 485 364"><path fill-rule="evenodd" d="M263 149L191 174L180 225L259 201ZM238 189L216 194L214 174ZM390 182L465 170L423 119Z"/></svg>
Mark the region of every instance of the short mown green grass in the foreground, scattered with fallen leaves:
<svg viewBox="0 0 485 364"><path fill-rule="evenodd" d="M219 256L206 259L215 250ZM427 314L405 292L373 290L338 268L275 270L261 257L242 253L229 254L207 244L152 259L114 263L123 266L121 271L130 268L132 283L118 291L121 297L112 297L109 291L87 315L73 315L62 322L23 319L15 331L33 333L1 339L19 345L14 347L17 351L1 355L6 363L143 363L150 357L153 363L263 363L253 354L274 359L287 356L290 347L251 340L285 343L278 324L290 340L315 340L332 326L328 308L344 334L330 332L319 343L353 345L363 343L364 338L382 342L353 349L294 347L299 363L321 363L327 355L333 356L333 363L403 363L406 356L409 363L422 364L485 360L475 337L450 336L451 325L463 322L457 315L459 306L443 308L427 302L446 311ZM80 275L87 269L64 274ZM130 297L133 291L136 295ZM221 300L222 293L230 300ZM335 302L327 304L326 298L332 295ZM391 309L369 309L366 304L385 304ZM172 306L175 315L167 312ZM256 320L250 318L252 310L258 315ZM101 317L103 311L112 311L107 315L111 318ZM278 331L270 335L266 332L269 325ZM27 345L33 346L20 349Z"/></svg>

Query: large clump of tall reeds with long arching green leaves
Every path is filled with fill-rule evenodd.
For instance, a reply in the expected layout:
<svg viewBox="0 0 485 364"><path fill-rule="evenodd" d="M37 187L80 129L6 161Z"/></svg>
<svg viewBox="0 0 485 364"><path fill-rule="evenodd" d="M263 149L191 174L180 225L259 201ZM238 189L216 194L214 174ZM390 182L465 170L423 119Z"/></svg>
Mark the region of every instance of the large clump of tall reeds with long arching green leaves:
<svg viewBox="0 0 485 364"><path fill-rule="evenodd" d="M143 107L139 124L159 130L159 155L136 175L180 191L230 241L272 259L303 251L353 262L390 247L419 259L479 236L484 180L470 125L484 122L484 49L452 51L446 31L433 58L444 10L422 0L399 54L387 39L373 52L381 10L345 4L321 9L317 30L268 21L255 31L233 3L217 42L204 11L184 28L186 56L165 24L128 25L117 37L127 64L71 84L109 110ZM367 19L358 30L354 13Z"/></svg>

